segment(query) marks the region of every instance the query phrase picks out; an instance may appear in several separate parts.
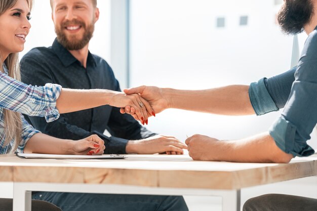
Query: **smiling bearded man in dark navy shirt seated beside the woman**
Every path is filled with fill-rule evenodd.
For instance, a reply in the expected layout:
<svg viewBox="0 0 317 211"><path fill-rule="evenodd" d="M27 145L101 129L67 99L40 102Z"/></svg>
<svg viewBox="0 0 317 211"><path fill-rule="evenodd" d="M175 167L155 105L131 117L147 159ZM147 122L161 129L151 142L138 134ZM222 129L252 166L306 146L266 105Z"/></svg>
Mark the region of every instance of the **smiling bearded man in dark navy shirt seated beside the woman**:
<svg viewBox="0 0 317 211"><path fill-rule="evenodd" d="M97 1L51 0L51 7L57 38L52 47L32 49L23 57L22 80L37 86L52 82L67 88L120 91L107 62L88 50L99 17ZM107 154L181 154L186 148L173 137L151 133L110 106L62 114L52 124L44 118L26 118L35 128L58 138L77 140L97 134ZM103 135L105 129L111 137ZM63 211L188 210L182 196L33 192L32 198L49 201Z"/></svg>

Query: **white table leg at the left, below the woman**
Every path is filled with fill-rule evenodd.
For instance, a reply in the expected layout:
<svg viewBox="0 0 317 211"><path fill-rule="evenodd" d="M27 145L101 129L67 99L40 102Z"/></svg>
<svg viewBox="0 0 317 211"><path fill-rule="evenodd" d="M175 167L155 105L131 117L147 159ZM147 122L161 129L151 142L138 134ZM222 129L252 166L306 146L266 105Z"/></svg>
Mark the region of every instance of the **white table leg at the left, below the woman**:
<svg viewBox="0 0 317 211"><path fill-rule="evenodd" d="M19 183L13 184L13 211L31 211L32 192Z"/></svg>

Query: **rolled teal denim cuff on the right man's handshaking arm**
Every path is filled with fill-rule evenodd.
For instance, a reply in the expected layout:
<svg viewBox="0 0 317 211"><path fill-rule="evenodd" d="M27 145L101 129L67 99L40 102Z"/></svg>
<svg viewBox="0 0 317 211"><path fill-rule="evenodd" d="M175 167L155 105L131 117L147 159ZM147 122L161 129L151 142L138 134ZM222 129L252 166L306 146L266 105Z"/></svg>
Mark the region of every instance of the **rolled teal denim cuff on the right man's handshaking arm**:
<svg viewBox="0 0 317 211"><path fill-rule="evenodd" d="M266 89L265 79L264 77L258 82L251 83L249 88L250 101L257 116L279 110Z"/></svg>

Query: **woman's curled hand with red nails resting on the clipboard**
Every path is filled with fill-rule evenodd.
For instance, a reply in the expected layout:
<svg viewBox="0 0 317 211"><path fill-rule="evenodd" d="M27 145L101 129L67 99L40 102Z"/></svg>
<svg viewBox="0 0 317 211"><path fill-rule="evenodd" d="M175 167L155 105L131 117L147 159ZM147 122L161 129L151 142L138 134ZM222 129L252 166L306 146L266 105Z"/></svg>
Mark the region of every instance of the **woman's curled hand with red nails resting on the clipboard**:
<svg viewBox="0 0 317 211"><path fill-rule="evenodd" d="M91 135L85 139L73 141L74 154L101 155L104 149L104 141L97 135Z"/></svg>

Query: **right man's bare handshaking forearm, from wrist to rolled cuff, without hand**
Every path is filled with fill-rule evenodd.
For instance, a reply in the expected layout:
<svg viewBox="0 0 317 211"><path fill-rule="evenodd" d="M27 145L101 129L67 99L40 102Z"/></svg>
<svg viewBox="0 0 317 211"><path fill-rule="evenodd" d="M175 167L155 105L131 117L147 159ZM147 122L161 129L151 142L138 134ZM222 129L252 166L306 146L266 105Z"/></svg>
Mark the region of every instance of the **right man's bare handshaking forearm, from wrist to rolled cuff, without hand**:
<svg viewBox="0 0 317 211"><path fill-rule="evenodd" d="M233 85L210 90L163 89L170 108L222 115L255 114L249 98L249 86Z"/></svg>

